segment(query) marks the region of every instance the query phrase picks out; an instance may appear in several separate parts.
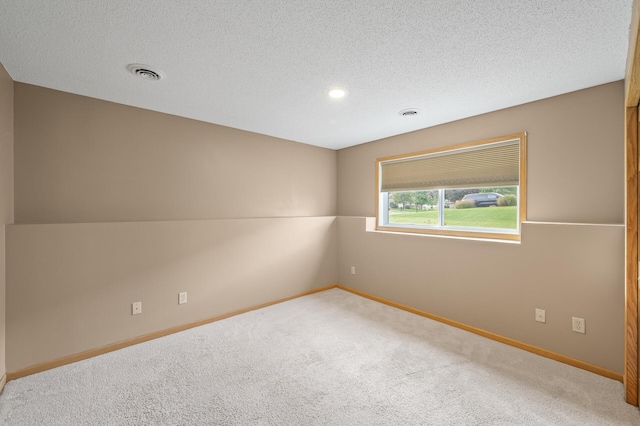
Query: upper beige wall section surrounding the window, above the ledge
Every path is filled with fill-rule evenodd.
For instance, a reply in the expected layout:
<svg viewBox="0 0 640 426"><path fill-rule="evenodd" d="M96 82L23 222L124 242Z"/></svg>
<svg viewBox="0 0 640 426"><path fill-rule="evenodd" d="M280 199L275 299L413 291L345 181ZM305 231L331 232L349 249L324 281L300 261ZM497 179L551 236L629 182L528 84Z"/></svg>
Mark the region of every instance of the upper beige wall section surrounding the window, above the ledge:
<svg viewBox="0 0 640 426"><path fill-rule="evenodd" d="M623 105L619 81L340 150L338 215L375 215L376 158L527 131L528 220L622 224Z"/></svg>

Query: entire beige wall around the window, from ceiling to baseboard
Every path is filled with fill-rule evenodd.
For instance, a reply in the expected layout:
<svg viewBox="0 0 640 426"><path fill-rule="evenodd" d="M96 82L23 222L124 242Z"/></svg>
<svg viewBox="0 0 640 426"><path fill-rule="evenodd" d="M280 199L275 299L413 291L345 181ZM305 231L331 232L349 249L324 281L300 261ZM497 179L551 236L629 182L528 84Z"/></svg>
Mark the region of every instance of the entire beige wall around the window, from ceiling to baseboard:
<svg viewBox="0 0 640 426"><path fill-rule="evenodd" d="M616 82L340 150L339 282L622 372L623 117ZM526 224L519 245L365 232L376 158L521 131L528 219L573 225ZM586 335L571 332L572 316Z"/></svg>

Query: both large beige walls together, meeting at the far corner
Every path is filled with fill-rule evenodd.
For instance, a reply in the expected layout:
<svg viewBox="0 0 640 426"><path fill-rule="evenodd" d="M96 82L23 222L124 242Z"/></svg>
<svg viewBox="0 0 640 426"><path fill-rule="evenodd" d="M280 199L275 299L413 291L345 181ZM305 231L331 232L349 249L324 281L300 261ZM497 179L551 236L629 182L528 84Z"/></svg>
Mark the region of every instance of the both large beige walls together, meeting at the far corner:
<svg viewBox="0 0 640 426"><path fill-rule="evenodd" d="M340 282L621 372L624 231L606 224L623 223L622 96L612 83L336 154L15 84L8 371ZM365 231L376 158L523 130L529 219L605 225L525 224L520 245Z"/></svg>

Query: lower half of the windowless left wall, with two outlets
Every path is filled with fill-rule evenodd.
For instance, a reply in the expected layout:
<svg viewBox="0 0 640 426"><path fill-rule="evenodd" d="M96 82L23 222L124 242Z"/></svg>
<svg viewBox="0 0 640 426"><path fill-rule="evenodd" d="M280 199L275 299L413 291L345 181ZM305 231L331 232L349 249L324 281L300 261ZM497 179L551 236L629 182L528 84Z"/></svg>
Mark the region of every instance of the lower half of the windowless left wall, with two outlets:
<svg viewBox="0 0 640 426"><path fill-rule="evenodd" d="M335 217L9 226L7 370L333 284L336 228Z"/></svg>

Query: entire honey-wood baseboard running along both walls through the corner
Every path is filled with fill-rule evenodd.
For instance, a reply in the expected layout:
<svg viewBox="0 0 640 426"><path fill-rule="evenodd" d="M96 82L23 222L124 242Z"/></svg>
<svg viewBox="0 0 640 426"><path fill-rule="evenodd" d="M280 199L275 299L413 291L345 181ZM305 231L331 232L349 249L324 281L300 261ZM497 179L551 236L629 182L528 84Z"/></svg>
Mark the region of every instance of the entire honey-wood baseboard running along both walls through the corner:
<svg viewBox="0 0 640 426"><path fill-rule="evenodd" d="M485 331L485 330L482 330L482 329L479 329L479 328L476 328L476 327L472 327L470 325L467 325L467 324L464 324L464 323L461 323L461 322L453 321L453 320L450 320L450 319L447 319L447 318L444 318L444 317L440 317L438 315L430 314L428 312L421 311L420 309L416 309L416 308L412 308L410 306L402 305L400 303L393 302L391 300L387 300L387 299L384 299L382 297L374 296L374 295L366 293L364 291L360 291L360 290L356 290L356 289L353 289L353 288L350 288L350 287L346 287L346 286L343 286L341 284L332 284L332 285L329 285L329 286L320 287L320 288L317 288L317 289L314 289L314 290L309 290L309 291L306 291L306 292L303 292L303 293L299 293L299 294L296 294L296 295L293 295L293 296L285 297L285 298L282 298L282 299L277 299L277 300L274 300L274 301L271 301L271 302L266 302L266 303L262 303L262 304L255 305L255 306L251 306L251 307L248 307L248 308L232 311L232 312L229 312L229 313L226 313L226 314L222 314L222 315L218 315L218 316L214 316L214 317L210 317L210 318L205 318L205 319L202 319L202 320L199 320L199 321L196 321L196 322L192 322L192 323L189 323L189 324L184 324L184 325L180 325L180 326L171 327L171 328L168 328L168 329L165 329L165 330L156 331L156 332L153 332L153 333L145 334L145 335L139 336L139 337L134 337L134 338L131 338L131 339L128 339L128 340L124 340L124 341L121 341L121 342L117 342L117 343L112 343L112 344L109 344L109 345L101 346L99 348L89 349L89 350L86 350L86 351L83 351L83 352L79 352L77 354L72 354L72 355L64 356L62 358L58 358L58 359L55 359L55 360L52 360L52 361L46 361L46 362L43 362L43 363L40 363L40 364L36 364L36 365L29 366L29 367L25 367L25 368L22 368L20 370L10 371L10 372L6 373L6 375L3 377L2 380L0 380L0 391L1 391L1 389L4 386L4 383L6 381L19 379L21 377L29 376L31 374L36 374L36 373L40 373L42 371L50 370L52 368L61 367L63 365L71 364L73 362L82 361L82 360L88 359L88 358L93 358L95 356L102 355L102 354L105 354L105 353L108 353L108 352L113 352L113 351L116 351L116 350L119 350L119 349L123 349L123 348L126 348L128 346L136 345L138 343L147 342L149 340L153 340L153 339L157 339L157 338L160 338L160 337L168 336L168 335L171 335L171 334L174 334L174 333L178 333L180 331L188 330L190 328L194 328L194 327L198 327L198 326L201 326L201 325L209 324L209 323L212 323L212 322L215 322L215 321L219 321L219 320L222 320L222 319L225 319L225 318L229 318L229 317L232 317L232 316L235 316L235 315L240 315L240 314L243 314L245 312L250 312L250 311L253 311L253 310L256 310L256 309L265 308L267 306L271 306L271 305L275 305L275 304L278 304L278 303L286 302L288 300L296 299L296 298L303 297L303 296L308 296L308 295L311 295L311 294L314 294L314 293L319 293L319 292L322 292L322 291L331 290L333 288L339 288L341 290L348 291L348 292L350 292L352 294L355 294L355 295L358 295L358 296L361 296L361 297L365 297L367 299L370 299L370 300L373 300L373 301L376 301L376 302L379 302L379 303L383 303L385 305L388 305L388 306L391 306L391 307L394 307L394 308L397 308L397 309L402 309L404 311L407 311L407 312L410 312L410 313L413 313L413 314L416 314L416 315L420 315L422 317L429 318L429 319L432 319L434 321L438 321L438 322L441 322L443 324L447 324L447 325L450 325L450 326L453 326L453 327L468 331L470 333L474 333L474 334L477 334L479 336L486 337L488 339L495 340L497 342L504 343L506 345L513 346L515 348L522 349L522 350L525 350L527 352L531 352L531 353L534 353L536 355L552 359L554 361L561 362L563 364L571 365L573 367L581 368L583 370L590 371L590 372L595 373L595 374L599 374L599 375L607 377L609 379L617 380L619 382L623 381L623 376L622 376L621 373L617 373L615 371L612 371L612 370L609 370L609 369L606 369L606 368L603 368L603 367L600 367L600 366L597 366L597 365L594 365L594 364L590 364L588 362L580 361L578 359L571 358L571 357L568 357L566 355L561 355L561 354L558 354L558 353L555 353L555 352L552 352L552 351L549 351L549 350L546 350L546 349L543 349L543 348L540 348L540 347L537 347L537 346L533 346L533 345L530 345L528 343L520 342L518 340L514 340L514 339L511 339L511 338L508 338L508 337L504 337L504 336L501 336L501 335L498 335L498 334L495 334L495 333L491 333L491 332L488 332L488 331Z"/></svg>

